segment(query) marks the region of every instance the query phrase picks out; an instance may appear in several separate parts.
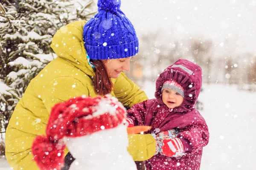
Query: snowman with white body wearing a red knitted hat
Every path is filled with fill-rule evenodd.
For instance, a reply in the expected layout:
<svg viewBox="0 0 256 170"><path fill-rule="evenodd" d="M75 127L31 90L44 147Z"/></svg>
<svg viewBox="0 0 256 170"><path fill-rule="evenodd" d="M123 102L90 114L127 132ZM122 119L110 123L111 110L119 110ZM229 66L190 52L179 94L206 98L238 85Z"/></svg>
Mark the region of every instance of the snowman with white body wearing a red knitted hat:
<svg viewBox="0 0 256 170"><path fill-rule="evenodd" d="M65 147L75 161L70 170L137 170L127 151L126 110L114 97L79 96L56 104L46 136L32 144L41 170L60 170Z"/></svg>

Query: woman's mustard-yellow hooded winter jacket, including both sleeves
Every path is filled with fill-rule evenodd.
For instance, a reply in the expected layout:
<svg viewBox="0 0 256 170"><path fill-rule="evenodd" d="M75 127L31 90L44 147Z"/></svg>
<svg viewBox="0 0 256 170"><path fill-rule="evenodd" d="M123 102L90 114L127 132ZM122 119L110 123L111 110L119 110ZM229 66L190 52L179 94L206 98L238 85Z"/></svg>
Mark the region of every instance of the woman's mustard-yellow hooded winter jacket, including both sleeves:
<svg viewBox="0 0 256 170"><path fill-rule="evenodd" d="M58 57L31 80L12 114L6 130L6 159L14 170L38 170L32 161L31 145L36 135L45 134L49 113L56 103L83 94L96 96L92 81L95 74L87 62L82 40L85 23L76 21L56 32L51 48ZM111 81L114 84L111 95L123 105L131 107L148 99L124 73ZM129 138L128 150L134 160L153 156L154 139L150 135ZM140 144L135 139L141 140Z"/></svg>

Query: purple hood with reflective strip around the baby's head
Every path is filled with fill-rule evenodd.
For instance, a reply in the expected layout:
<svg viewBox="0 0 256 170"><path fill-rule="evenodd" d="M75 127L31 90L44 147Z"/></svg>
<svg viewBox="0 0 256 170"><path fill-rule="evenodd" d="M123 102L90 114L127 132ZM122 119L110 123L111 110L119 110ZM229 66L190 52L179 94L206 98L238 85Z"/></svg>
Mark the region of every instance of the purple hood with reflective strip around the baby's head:
<svg viewBox="0 0 256 170"><path fill-rule="evenodd" d="M157 78L155 97L160 105L164 105L161 88L167 80L174 80L184 89L183 103L174 108L175 112L191 110L198 99L202 87L202 69L199 65L186 59L179 59L167 67Z"/></svg>

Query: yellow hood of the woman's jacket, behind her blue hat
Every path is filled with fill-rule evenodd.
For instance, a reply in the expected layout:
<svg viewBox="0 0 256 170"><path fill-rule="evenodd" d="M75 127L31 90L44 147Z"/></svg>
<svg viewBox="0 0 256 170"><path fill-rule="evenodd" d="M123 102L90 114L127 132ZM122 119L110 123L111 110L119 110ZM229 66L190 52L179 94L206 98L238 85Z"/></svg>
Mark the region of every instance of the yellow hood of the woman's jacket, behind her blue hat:
<svg viewBox="0 0 256 170"><path fill-rule="evenodd" d="M87 62L83 41L83 28L86 22L76 21L61 27L52 38L51 48L58 57L66 59L88 76L93 76L93 68Z"/></svg>

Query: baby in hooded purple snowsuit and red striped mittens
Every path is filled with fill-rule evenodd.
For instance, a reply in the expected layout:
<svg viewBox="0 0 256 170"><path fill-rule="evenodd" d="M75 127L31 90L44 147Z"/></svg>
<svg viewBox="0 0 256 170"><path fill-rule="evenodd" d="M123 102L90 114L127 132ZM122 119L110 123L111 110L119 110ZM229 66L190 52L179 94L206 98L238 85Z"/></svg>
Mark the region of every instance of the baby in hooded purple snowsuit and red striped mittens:
<svg viewBox="0 0 256 170"><path fill-rule="evenodd" d="M156 152L147 170L199 170L203 147L209 142L207 124L195 109L202 86L202 69L186 59L166 68L156 81L156 99L128 110L127 122L149 125Z"/></svg>

